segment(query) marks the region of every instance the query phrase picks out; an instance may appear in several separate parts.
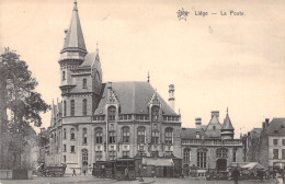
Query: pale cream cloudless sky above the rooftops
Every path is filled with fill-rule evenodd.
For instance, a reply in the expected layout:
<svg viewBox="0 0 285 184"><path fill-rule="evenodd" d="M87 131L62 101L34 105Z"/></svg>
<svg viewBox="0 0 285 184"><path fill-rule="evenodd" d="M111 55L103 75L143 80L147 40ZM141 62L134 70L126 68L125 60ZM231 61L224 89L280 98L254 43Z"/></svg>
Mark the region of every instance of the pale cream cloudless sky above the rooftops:
<svg viewBox="0 0 285 184"><path fill-rule="evenodd" d="M0 1L0 47L21 55L49 104L60 101L58 59L72 7ZM178 18L182 8L186 21ZM166 100L173 83L183 127L195 117L208 124L210 111L223 123L227 107L236 137L285 117L285 1L78 0L78 9L88 51L99 44L103 81L147 81L149 71ZM42 117L48 127L50 112Z"/></svg>

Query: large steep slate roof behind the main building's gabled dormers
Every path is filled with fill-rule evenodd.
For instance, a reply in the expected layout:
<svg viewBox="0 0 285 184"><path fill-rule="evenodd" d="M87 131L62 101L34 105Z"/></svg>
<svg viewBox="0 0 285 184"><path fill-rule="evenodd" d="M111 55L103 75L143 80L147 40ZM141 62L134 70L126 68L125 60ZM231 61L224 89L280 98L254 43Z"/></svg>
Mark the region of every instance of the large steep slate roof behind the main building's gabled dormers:
<svg viewBox="0 0 285 184"><path fill-rule="evenodd" d="M104 91L94 114L105 114L105 103L107 100L107 85L103 85ZM149 82L113 82L112 90L121 106L121 114L148 114L148 103L156 90ZM164 115L178 114L169 106L169 104L158 94L162 103L162 112ZM162 114L163 114L162 113Z"/></svg>

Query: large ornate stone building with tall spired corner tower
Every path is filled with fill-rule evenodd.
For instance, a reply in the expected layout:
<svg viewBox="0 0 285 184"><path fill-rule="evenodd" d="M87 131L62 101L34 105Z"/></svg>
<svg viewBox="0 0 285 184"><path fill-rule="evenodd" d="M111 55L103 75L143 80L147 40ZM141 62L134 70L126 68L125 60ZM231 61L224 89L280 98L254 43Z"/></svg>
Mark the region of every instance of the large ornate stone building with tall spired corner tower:
<svg viewBox="0 0 285 184"><path fill-rule="evenodd" d="M99 49L86 48L77 2L58 62L61 100L53 105L46 164L81 173L116 158L181 158L174 85L170 106L149 82L104 83Z"/></svg>

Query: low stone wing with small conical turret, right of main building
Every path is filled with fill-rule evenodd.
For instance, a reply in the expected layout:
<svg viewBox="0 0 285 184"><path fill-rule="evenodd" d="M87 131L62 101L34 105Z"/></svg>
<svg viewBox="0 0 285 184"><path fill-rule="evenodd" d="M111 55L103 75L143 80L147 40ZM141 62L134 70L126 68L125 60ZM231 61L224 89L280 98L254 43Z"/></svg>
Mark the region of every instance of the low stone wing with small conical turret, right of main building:
<svg viewBox="0 0 285 184"><path fill-rule="evenodd" d="M202 125L200 117L195 124L195 128L182 128L181 131L185 175L193 168L198 176L204 176L207 170L225 171L232 163L244 161L242 140L233 139L235 128L228 113L223 124L218 111L212 112L207 125Z"/></svg>

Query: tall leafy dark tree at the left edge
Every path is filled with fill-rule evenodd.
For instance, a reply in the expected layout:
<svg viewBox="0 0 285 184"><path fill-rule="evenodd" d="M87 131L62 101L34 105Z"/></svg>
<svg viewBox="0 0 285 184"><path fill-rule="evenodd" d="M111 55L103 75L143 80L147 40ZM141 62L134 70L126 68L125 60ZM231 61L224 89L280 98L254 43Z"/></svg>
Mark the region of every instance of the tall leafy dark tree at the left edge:
<svg viewBox="0 0 285 184"><path fill-rule="evenodd" d="M20 59L20 55L7 49L0 60L1 156L3 149L8 153L21 153L31 124L39 127L39 114L50 108L41 94L34 91L36 85L37 81L26 62ZM7 110L11 112L11 120L7 118ZM3 159L1 157L1 163Z"/></svg>

